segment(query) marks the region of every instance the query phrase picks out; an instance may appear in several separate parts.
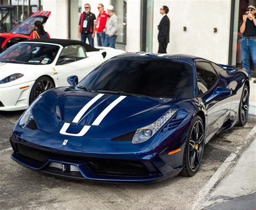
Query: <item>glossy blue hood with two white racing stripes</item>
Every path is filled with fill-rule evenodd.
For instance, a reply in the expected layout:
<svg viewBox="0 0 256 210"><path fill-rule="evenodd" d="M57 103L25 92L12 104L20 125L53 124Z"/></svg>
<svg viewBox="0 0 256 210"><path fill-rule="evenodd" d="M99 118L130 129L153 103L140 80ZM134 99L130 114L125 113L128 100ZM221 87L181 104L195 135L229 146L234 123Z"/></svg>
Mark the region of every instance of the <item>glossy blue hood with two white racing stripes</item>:
<svg viewBox="0 0 256 210"><path fill-rule="evenodd" d="M43 94L32 114L38 129L52 134L60 135L65 123L69 124L66 129L69 134L78 134L85 127L89 129L78 138L114 138L155 122L176 102L173 99L99 95L62 87Z"/></svg>

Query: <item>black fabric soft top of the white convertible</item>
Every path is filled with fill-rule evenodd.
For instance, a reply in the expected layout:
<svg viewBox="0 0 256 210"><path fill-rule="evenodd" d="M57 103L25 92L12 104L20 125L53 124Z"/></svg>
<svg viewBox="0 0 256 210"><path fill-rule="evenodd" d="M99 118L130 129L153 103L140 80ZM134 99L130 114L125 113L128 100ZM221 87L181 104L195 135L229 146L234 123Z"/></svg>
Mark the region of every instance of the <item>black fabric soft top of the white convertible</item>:
<svg viewBox="0 0 256 210"><path fill-rule="evenodd" d="M63 47L66 47L69 45L82 45L85 47L86 52L99 51L98 48L92 47L84 43L83 41L72 40L72 39L31 39L29 40L29 42L58 44L58 45L62 45Z"/></svg>

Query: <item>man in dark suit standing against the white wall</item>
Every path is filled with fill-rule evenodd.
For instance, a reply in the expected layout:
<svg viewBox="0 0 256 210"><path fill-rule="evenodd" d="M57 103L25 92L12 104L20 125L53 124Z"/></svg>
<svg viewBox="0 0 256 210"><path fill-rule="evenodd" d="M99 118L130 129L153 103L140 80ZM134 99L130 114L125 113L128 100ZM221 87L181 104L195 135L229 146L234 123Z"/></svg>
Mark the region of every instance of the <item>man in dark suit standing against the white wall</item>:
<svg viewBox="0 0 256 210"><path fill-rule="evenodd" d="M166 53L167 44L169 43L170 19L166 15L168 12L168 6L162 6L160 8L160 14L162 15L162 19L160 21L160 24L158 25L158 53Z"/></svg>

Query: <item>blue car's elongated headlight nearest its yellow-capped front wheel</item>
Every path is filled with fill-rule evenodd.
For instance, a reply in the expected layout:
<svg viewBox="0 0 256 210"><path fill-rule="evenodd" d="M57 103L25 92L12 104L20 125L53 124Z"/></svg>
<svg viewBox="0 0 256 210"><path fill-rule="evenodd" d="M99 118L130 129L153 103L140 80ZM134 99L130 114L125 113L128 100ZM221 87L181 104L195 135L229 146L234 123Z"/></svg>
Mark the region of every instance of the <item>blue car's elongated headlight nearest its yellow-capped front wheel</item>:
<svg viewBox="0 0 256 210"><path fill-rule="evenodd" d="M132 143L138 144L149 140L176 113L176 111L177 110L169 110L156 122L138 129L133 136Z"/></svg>

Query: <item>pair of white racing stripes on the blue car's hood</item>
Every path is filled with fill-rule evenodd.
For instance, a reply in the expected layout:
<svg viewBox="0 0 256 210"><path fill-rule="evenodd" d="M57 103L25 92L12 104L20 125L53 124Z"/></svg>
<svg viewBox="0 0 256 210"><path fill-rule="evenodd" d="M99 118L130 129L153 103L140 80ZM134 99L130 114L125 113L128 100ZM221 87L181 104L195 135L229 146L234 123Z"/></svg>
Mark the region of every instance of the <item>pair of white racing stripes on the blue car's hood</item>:
<svg viewBox="0 0 256 210"><path fill-rule="evenodd" d="M98 94L97 96L93 97L91 101L89 101L85 106L79 111L79 113L76 115L73 123L78 123L80 118L84 115L84 113L95 103L100 97L102 97L104 94ZM99 116L95 119L95 121L92 123L92 125L99 125L100 122L104 119L104 117L115 107L119 102L121 102L123 99L125 99L126 96L119 96L116 100L114 100L109 106L107 106L102 113L99 114ZM83 129L80 130L78 134L70 134L66 132L70 126L70 123L64 123L62 129L60 129L59 133L63 135L68 136L84 136L86 132L91 128L91 125L84 125Z"/></svg>

